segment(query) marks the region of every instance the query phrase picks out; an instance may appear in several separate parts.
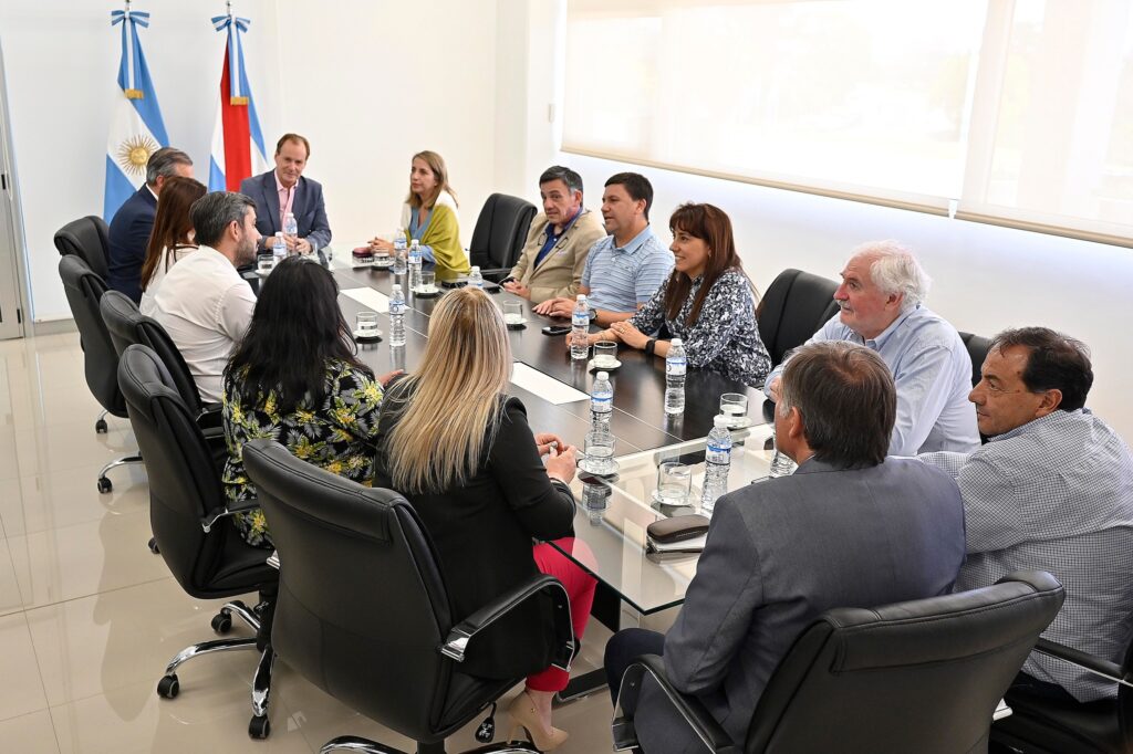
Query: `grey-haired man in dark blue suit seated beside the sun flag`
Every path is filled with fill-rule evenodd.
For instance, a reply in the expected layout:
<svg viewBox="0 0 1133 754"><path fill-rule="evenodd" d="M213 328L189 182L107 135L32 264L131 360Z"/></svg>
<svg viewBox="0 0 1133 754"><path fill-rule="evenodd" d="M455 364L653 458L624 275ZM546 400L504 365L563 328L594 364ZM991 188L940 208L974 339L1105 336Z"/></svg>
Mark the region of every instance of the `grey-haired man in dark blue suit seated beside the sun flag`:
<svg viewBox="0 0 1133 754"><path fill-rule="evenodd" d="M122 203L110 221L107 285L130 297L135 303L142 301L142 263L157 214L157 195L165 179L173 175L193 178L189 155L173 147L154 152L146 162L145 183Z"/></svg>

